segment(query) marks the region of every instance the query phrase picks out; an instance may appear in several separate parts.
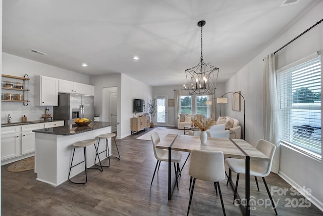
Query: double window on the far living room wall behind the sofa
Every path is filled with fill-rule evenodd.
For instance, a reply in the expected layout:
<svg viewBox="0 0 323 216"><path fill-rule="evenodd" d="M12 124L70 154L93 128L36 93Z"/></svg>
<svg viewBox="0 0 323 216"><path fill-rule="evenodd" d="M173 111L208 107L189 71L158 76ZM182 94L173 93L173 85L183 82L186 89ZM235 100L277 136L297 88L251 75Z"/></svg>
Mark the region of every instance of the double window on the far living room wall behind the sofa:
<svg viewBox="0 0 323 216"><path fill-rule="evenodd" d="M208 100L208 96L181 96L181 108L182 114L203 114L204 117L210 117L210 107L206 106L205 102Z"/></svg>

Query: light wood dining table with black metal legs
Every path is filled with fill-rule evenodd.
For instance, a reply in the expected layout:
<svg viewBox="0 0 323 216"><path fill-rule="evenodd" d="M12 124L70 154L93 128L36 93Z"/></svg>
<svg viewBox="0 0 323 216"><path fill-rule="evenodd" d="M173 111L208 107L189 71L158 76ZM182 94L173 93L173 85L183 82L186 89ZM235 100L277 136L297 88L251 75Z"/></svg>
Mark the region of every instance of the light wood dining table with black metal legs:
<svg viewBox="0 0 323 216"><path fill-rule="evenodd" d="M184 136L168 134L161 139L156 145L156 148L169 150L168 163L168 200L172 199L175 182L172 183L172 154L173 150L191 152L193 149L207 150L207 151L222 151L226 158L239 158L246 161L246 175L245 175L245 199L242 201L240 195L237 193L237 199L244 215L250 215L250 160L256 161L270 161L266 155L257 150L255 147L241 139L227 139L227 138L207 138L206 144L201 144L199 136ZM227 175L229 182L235 190L231 175Z"/></svg>

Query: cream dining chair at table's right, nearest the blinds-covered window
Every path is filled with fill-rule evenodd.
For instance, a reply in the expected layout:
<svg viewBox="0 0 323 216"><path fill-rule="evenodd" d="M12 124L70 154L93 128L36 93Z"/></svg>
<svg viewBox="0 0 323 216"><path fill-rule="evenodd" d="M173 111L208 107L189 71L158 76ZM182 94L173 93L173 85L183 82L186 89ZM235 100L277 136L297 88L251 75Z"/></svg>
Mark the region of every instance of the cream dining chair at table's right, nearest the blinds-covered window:
<svg viewBox="0 0 323 216"><path fill-rule="evenodd" d="M275 204L273 202L273 198L272 198L271 193L268 189L267 183L264 179L271 172L272 164L273 164L273 157L274 157L274 153L276 150L276 146L271 142L268 142L265 140L259 140L256 145L256 149L258 149L263 154L265 154L267 157L269 157L270 161L250 161L250 176L255 177L258 190L259 190L259 186L258 186L257 177L262 178L263 184L266 187L268 196L272 201L273 208L274 208L275 213L277 215L277 210L276 210ZM237 159L237 158L227 158L226 162L229 166L229 176L231 176L231 171L236 172L236 174L237 174L236 188L235 188L234 197L233 197L233 202L234 202L235 199L237 198L239 175L246 174L245 160L244 159ZM229 179L228 179L228 182L229 182ZM228 182L227 182L227 185L228 185Z"/></svg>

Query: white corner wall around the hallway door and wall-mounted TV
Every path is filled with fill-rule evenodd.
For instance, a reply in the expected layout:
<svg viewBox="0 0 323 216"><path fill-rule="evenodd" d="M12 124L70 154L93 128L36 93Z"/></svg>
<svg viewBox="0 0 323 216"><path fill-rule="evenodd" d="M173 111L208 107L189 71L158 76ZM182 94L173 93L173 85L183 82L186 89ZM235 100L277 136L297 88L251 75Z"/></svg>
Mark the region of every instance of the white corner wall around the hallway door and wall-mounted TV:
<svg viewBox="0 0 323 216"><path fill-rule="evenodd" d="M102 90L105 87L117 87L118 89L118 122L117 138L122 139L131 134L130 118L133 117L133 99L143 99L146 102L152 98L152 88L125 74L115 73L109 75L91 76L90 84L94 85L95 113L102 116ZM146 110L148 112L148 110ZM142 113L137 113L140 115Z"/></svg>

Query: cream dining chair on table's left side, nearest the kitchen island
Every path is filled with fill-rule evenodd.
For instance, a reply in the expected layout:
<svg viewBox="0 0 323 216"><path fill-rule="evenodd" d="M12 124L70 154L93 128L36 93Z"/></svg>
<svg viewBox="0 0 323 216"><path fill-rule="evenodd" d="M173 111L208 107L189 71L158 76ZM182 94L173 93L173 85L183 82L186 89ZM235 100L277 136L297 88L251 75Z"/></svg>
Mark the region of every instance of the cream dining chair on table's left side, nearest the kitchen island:
<svg viewBox="0 0 323 216"><path fill-rule="evenodd" d="M169 151L166 150L166 149L157 149L156 148L156 145L160 142L160 138L159 138L158 133L155 132L155 133L151 134L150 138L151 138L151 141L152 141L153 153L155 155L155 158L157 159L155 170L153 172L152 180L151 180L151 183L150 183L150 186L151 186L153 178L155 177L157 166L158 166L158 170L159 170L160 161L167 161L168 162L168 153L169 153ZM180 170L179 163L181 162L181 160L182 160L182 153L179 152L179 151L172 151L172 162L174 162L177 189L178 189L177 173ZM176 164L177 164L177 168L176 168Z"/></svg>

